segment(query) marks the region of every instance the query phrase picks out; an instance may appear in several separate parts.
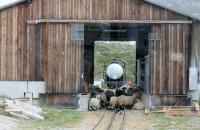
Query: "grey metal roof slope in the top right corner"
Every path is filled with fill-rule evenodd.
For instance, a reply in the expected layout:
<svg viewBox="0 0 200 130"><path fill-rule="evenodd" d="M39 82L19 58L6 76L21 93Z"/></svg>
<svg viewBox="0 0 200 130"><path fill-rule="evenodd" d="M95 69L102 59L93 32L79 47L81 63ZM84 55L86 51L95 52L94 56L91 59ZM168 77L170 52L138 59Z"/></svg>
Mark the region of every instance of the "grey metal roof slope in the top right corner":
<svg viewBox="0 0 200 130"><path fill-rule="evenodd" d="M200 20L200 0L144 0L174 12Z"/></svg>

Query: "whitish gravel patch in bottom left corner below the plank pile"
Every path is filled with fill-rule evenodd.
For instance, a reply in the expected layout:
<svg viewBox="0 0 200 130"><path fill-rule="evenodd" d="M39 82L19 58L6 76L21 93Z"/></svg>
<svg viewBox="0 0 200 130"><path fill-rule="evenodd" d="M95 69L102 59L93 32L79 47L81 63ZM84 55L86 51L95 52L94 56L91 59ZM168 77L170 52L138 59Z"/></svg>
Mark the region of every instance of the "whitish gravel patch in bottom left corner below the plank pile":
<svg viewBox="0 0 200 130"><path fill-rule="evenodd" d="M16 120L0 115L0 130L14 130L17 126Z"/></svg>

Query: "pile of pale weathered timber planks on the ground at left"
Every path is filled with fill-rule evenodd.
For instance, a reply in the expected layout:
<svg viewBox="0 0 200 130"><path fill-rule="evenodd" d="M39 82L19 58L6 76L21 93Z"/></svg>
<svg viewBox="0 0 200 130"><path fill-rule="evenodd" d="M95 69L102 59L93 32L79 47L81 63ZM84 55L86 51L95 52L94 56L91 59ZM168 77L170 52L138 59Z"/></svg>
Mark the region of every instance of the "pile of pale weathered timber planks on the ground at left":
<svg viewBox="0 0 200 130"><path fill-rule="evenodd" d="M19 100L0 99L0 107L11 116L19 119L43 120L44 112L41 108L32 106Z"/></svg>

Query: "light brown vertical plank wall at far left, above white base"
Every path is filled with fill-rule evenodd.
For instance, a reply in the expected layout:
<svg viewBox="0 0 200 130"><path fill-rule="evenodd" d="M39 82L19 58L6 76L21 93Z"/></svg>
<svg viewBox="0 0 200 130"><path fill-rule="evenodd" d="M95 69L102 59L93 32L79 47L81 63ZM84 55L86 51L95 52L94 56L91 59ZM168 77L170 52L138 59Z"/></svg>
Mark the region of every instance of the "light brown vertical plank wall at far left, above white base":
<svg viewBox="0 0 200 130"><path fill-rule="evenodd" d="M0 80L27 80L27 7L0 11Z"/></svg>

